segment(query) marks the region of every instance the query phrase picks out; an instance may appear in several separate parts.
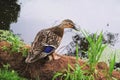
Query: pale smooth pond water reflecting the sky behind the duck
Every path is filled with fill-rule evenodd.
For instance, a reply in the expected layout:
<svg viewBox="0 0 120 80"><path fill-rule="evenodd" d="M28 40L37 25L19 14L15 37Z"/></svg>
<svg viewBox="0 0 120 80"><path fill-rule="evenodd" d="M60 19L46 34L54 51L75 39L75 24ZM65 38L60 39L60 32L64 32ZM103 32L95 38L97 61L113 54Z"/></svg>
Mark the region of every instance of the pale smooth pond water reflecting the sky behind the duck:
<svg viewBox="0 0 120 80"><path fill-rule="evenodd" d="M19 3L20 17L11 24L11 29L28 44L38 31L58 25L64 19L73 20L77 27L89 32L120 33L120 0L19 0ZM75 35L75 31L65 31L61 46L67 45Z"/></svg>

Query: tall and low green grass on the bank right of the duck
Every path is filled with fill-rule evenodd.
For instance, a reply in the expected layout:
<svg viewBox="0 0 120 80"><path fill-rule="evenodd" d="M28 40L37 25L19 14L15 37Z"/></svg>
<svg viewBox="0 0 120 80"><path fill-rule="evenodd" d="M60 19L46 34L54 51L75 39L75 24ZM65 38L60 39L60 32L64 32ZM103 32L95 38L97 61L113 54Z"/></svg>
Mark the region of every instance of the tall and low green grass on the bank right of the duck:
<svg viewBox="0 0 120 80"><path fill-rule="evenodd" d="M85 36L86 40L90 44L88 46L88 51L86 54L88 55L88 61L86 64L89 65L89 70L82 70L82 68L86 65L80 66L76 63L75 68L73 68L70 64L68 64L68 69L65 72L57 72L52 80L56 80L60 78L60 80L95 80L95 75L98 74L96 69L96 65L99 62L99 59L106 48L107 45L102 44L103 42L103 35L102 32L97 36L97 33L90 37L89 34L84 31L82 32ZM76 47L76 60L78 60L78 46ZM112 71L114 70L115 64L115 55L113 58L110 59L110 67L109 71L106 75L107 79L111 79ZM87 74L87 75L85 75Z"/></svg>

